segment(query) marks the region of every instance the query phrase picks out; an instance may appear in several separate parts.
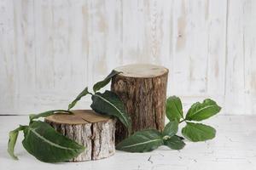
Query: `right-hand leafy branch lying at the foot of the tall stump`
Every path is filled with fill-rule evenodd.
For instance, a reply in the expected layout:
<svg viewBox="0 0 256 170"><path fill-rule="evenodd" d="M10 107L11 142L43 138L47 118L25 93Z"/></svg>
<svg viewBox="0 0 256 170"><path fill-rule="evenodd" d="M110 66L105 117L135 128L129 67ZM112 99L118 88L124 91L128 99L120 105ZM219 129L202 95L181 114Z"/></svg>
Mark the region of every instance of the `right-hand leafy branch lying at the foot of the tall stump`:
<svg viewBox="0 0 256 170"><path fill-rule="evenodd" d="M187 115L183 116L183 105L181 100L172 96L166 100L166 116L170 122L166 124L163 132L148 129L134 133L120 142L117 150L128 152L146 152L166 145L173 150L183 149L185 143L183 137L193 142L205 141L215 137L216 130L202 123L195 123L216 115L221 110L212 99L205 99L202 103L196 102L191 105ZM183 137L177 136L178 125L186 122L182 129Z"/></svg>

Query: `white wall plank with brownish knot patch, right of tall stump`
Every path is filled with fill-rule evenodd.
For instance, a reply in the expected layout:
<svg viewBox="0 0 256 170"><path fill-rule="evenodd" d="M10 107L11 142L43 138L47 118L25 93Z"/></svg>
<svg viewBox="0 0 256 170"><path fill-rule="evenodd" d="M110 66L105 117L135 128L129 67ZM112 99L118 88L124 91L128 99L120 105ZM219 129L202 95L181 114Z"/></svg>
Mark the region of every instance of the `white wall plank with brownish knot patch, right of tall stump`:
<svg viewBox="0 0 256 170"><path fill-rule="evenodd" d="M173 79L175 94L205 95L207 80L206 1L175 1ZM201 44L200 46L198 44Z"/></svg>

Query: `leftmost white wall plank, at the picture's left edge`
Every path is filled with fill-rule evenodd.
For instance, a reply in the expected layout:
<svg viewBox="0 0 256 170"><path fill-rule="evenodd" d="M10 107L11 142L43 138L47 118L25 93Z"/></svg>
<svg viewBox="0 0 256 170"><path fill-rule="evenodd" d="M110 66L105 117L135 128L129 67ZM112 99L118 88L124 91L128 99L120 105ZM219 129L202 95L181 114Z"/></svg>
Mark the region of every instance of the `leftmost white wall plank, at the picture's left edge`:
<svg viewBox="0 0 256 170"><path fill-rule="evenodd" d="M3 49L0 50L5 63L1 82L7 82L4 83L7 87L2 88L5 92L2 93L1 112L15 114L19 109L30 111L35 94L33 3L24 0L6 1L2 4L5 5L2 16L6 23L3 22L3 39L1 38L5 44L1 45Z"/></svg>

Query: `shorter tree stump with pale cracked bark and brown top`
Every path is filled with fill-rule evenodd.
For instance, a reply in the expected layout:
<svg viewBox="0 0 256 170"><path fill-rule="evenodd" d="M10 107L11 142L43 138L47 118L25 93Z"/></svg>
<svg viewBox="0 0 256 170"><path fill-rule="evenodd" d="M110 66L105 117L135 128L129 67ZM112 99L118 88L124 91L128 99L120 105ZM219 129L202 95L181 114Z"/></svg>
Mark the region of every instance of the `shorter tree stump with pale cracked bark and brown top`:
<svg viewBox="0 0 256 170"><path fill-rule="evenodd" d="M55 114L44 119L55 130L86 147L70 161L98 160L113 156L115 120L91 110L73 111L73 115Z"/></svg>

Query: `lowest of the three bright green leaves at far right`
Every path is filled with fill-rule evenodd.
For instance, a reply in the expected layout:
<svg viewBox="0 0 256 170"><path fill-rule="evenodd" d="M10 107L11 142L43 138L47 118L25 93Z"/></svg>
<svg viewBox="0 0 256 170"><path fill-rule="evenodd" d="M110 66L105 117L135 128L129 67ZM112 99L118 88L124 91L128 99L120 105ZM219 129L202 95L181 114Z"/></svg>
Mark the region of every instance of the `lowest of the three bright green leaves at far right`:
<svg viewBox="0 0 256 170"><path fill-rule="evenodd" d="M205 141L215 137L216 130L213 127L201 124L187 122L182 129L183 136L193 142Z"/></svg>

